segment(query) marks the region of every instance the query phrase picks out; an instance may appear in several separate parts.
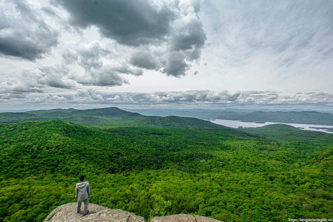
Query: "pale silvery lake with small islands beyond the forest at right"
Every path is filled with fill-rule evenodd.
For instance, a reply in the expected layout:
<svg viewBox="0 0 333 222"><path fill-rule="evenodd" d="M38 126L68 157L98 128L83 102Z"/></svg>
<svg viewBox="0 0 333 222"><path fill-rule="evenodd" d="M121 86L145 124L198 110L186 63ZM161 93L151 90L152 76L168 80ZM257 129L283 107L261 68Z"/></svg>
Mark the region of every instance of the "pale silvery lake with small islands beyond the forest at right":
<svg viewBox="0 0 333 222"><path fill-rule="evenodd" d="M331 125L313 125L313 124L300 124L300 123L284 123L284 122L265 122L265 123L256 123L256 122L241 122L238 120L226 120L226 119L205 119L208 121L211 121L216 124L220 125L225 125L229 126L232 128L238 128L238 126L243 126L243 127L260 127L264 125L269 125L269 124L276 124L276 123L282 123L282 124L287 124L287 125L292 125L295 127L302 127L304 130L313 130L313 131L321 131L321 132L327 132L327 133L333 133L330 131L326 131L325 129L314 129L314 128L309 128L309 127L327 127L327 128L333 128Z"/></svg>

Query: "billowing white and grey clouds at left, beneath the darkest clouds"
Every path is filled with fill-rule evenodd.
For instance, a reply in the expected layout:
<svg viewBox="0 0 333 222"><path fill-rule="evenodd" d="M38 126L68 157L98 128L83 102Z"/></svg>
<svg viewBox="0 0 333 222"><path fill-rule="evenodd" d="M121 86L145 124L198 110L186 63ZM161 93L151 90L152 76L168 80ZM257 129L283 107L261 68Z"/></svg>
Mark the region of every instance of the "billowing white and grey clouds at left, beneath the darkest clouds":
<svg viewBox="0 0 333 222"><path fill-rule="evenodd" d="M143 70L130 66L122 58L112 61L105 59L111 53L111 50L97 40L90 44L79 44L74 48L66 49L61 54L63 59L57 64L6 74L4 81L0 82L0 92L41 93L50 89L54 90L52 88L58 88L60 92L63 92L77 88L79 84L122 86L129 84L124 75L143 75ZM104 60L112 63L104 64ZM45 97L40 97L38 101L41 101L41 98ZM101 99L99 96L94 98Z"/></svg>

